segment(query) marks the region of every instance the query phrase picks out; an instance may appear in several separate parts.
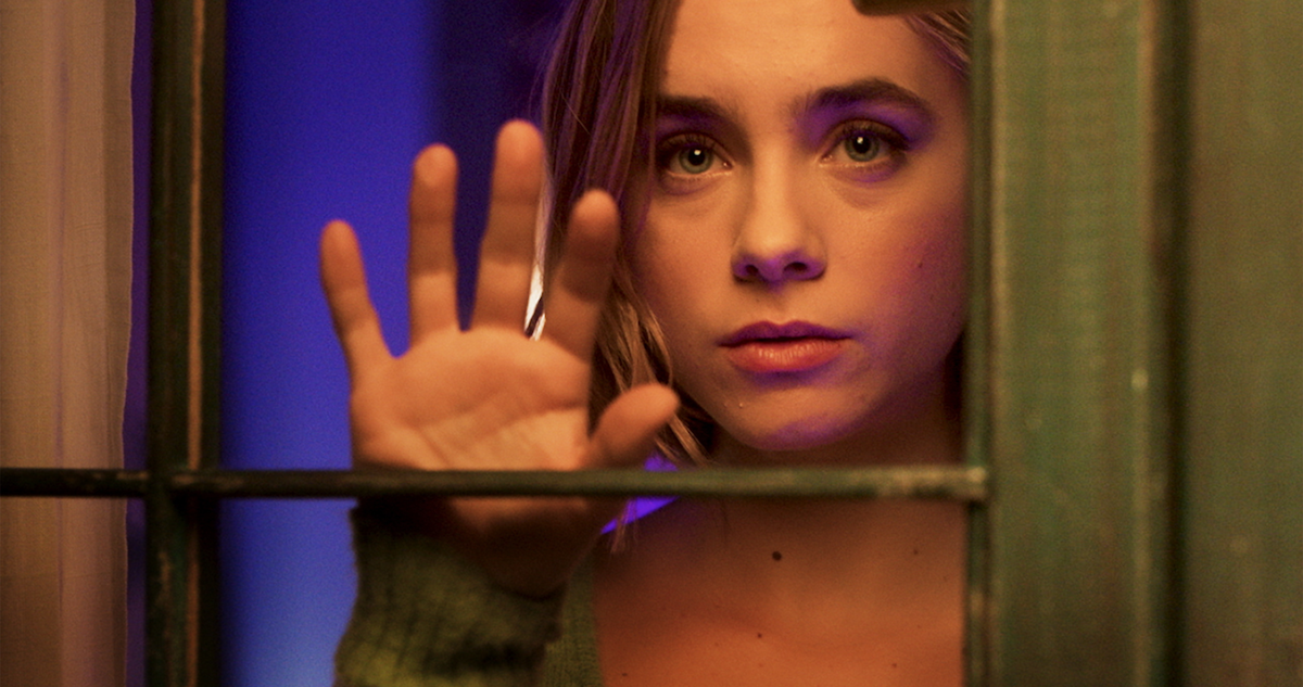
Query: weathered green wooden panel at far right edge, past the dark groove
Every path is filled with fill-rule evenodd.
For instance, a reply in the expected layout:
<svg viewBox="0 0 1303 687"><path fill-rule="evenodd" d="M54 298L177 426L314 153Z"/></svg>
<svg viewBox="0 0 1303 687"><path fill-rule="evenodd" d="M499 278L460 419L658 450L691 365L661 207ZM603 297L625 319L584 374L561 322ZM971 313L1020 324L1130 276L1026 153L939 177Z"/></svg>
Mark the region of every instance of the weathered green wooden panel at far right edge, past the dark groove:
<svg viewBox="0 0 1303 687"><path fill-rule="evenodd" d="M1303 4L1191 5L1182 678L1303 683Z"/></svg>

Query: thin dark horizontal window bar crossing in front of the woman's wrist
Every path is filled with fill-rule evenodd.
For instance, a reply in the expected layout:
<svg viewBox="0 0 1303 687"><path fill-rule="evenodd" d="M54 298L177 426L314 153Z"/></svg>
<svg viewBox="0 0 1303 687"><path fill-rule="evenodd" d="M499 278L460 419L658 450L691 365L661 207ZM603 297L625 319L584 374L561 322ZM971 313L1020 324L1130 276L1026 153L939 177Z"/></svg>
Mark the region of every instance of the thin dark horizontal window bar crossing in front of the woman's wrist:
<svg viewBox="0 0 1303 687"><path fill-rule="evenodd" d="M173 472L165 489L185 496L340 498L367 496L688 496L986 500L973 466L865 468L710 468L678 472L203 470ZM141 497L143 470L3 468L0 496Z"/></svg>

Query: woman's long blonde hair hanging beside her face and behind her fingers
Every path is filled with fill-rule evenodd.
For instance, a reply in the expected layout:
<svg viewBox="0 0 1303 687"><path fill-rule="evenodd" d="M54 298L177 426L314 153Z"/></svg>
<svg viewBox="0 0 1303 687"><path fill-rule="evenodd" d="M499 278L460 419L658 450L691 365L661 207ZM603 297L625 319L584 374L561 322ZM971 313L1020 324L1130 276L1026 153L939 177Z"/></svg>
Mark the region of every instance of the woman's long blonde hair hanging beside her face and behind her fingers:
<svg viewBox="0 0 1303 687"><path fill-rule="evenodd" d="M542 125L551 183L545 277L560 255L571 207L586 190L611 193L624 236L641 221L645 198L631 191L653 169L657 92L676 8L678 0L579 0L563 20L543 82ZM923 13L907 21L947 65L967 74L967 12ZM546 302L545 278L532 328ZM661 328L638 298L622 250L598 329L592 416L624 390L650 381L672 386L674 370ZM710 416L685 397L657 438L657 449L675 463L702 465L714 429Z"/></svg>

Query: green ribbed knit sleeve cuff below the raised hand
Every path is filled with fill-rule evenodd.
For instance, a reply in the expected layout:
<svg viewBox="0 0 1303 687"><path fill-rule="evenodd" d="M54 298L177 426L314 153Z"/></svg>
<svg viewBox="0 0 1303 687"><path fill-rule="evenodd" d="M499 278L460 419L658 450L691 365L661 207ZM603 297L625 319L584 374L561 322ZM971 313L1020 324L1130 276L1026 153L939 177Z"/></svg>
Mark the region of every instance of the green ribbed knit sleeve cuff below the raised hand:
<svg viewBox="0 0 1303 687"><path fill-rule="evenodd" d="M447 545L353 514L358 593L336 687L524 687L559 632L560 592L495 586Z"/></svg>

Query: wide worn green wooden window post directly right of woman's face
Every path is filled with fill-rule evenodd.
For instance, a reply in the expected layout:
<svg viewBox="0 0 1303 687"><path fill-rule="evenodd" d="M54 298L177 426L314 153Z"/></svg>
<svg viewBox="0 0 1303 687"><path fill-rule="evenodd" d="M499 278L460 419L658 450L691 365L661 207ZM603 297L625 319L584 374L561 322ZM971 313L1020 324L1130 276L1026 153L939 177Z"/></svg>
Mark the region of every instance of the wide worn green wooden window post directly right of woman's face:
<svg viewBox="0 0 1303 687"><path fill-rule="evenodd" d="M988 575L975 682L1167 684L1175 161L1158 39L1171 17L1147 0L995 0L984 21L989 303L973 410L993 501L975 528Z"/></svg>

